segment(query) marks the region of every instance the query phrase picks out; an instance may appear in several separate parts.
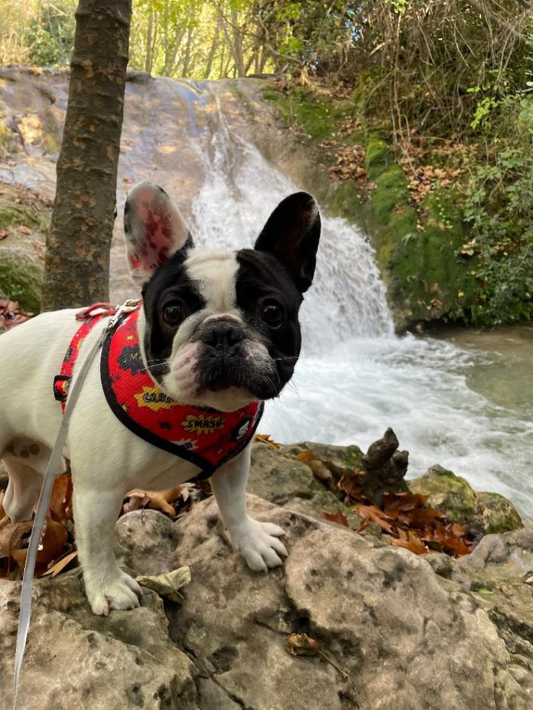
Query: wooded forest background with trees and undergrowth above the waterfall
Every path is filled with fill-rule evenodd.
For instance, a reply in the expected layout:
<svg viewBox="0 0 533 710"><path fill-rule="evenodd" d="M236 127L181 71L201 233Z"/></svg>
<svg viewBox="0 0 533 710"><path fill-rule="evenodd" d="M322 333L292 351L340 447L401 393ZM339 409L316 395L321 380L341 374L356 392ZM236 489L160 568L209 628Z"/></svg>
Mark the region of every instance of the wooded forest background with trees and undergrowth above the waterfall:
<svg viewBox="0 0 533 710"><path fill-rule="evenodd" d="M0 65L68 66L76 6L0 0ZM435 221L431 195L439 229L460 214L456 257L473 293L462 305L458 291L450 317L532 318L529 0L136 0L129 55L130 70L154 76L275 77L287 120L362 201L375 188L370 151L390 146L408 192L404 244Z"/></svg>

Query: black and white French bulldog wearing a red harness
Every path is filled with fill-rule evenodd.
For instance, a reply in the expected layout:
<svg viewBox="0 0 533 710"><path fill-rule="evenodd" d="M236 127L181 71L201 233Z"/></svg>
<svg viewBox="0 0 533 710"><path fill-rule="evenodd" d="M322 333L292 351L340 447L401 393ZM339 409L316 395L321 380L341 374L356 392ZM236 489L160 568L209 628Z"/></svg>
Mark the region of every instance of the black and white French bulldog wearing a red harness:
<svg viewBox="0 0 533 710"><path fill-rule="evenodd" d="M142 304L110 330L92 361L64 450L95 614L139 606L139 584L113 555L115 523L131 488L209 475L235 550L257 571L282 564L283 530L246 512L250 442L262 402L279 395L298 359L298 310L313 280L320 231L315 200L297 192L274 209L254 249L195 247L161 187L141 182L129 192L126 256L142 282ZM46 312L0 337L0 458L9 473L4 508L14 522L31 519L38 501L62 417L53 395L62 363L75 356L75 379L111 317L95 317L78 340L76 314ZM139 420L144 413L150 430Z"/></svg>

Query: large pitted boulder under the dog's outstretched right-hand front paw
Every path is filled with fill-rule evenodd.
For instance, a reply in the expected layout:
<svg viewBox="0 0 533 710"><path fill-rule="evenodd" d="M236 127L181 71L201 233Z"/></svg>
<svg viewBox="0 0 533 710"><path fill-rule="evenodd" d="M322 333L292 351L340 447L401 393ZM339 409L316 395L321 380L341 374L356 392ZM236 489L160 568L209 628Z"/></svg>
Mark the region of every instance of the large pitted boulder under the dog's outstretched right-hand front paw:
<svg viewBox="0 0 533 710"><path fill-rule="evenodd" d="M269 574L251 572L232 552L212 499L176 523L171 564L189 564L192 581L183 605L168 608L171 636L216 683L208 685L216 706L530 707L532 672L510 671L489 614L423 557L254 496L249 510L286 530L289 557ZM289 655L285 638L294 632L318 640L348 679L323 657Z"/></svg>

